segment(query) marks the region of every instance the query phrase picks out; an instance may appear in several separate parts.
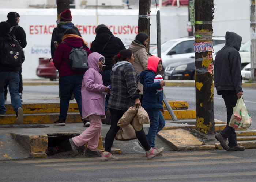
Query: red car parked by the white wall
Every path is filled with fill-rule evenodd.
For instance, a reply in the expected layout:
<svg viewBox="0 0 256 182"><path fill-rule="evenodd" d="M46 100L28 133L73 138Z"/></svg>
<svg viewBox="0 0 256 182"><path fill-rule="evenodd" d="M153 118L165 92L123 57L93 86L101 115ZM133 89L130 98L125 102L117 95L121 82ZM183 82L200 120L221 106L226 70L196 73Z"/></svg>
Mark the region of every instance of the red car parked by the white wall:
<svg viewBox="0 0 256 182"><path fill-rule="evenodd" d="M59 78L59 72L53 64L53 59L39 58L39 66L37 67L37 76L49 78L51 81Z"/></svg>

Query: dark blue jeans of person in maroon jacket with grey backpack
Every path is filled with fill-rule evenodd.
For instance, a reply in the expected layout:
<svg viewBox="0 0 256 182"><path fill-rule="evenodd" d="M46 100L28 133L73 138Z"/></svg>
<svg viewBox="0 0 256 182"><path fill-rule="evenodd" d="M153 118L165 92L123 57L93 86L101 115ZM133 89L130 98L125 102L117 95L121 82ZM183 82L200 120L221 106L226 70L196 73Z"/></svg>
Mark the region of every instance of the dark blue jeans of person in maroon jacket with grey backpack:
<svg viewBox="0 0 256 182"><path fill-rule="evenodd" d="M66 120L68 115L69 101L74 93L76 103L82 118L82 81L84 74L61 76L60 83L60 115L59 119Z"/></svg>

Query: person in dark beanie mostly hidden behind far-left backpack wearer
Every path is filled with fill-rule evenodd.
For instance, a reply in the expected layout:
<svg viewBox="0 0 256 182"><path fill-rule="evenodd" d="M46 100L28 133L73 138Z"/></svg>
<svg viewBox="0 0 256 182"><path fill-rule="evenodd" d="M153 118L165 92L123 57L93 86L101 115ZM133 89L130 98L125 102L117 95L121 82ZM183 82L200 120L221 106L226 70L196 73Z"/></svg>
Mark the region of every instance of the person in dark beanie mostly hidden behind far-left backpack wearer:
<svg viewBox="0 0 256 182"><path fill-rule="evenodd" d="M19 26L20 15L17 12L9 12L7 15L8 20L6 21L11 25L10 35L12 35L20 44L22 48L27 46L26 33L22 27ZM22 91L23 91L23 81L22 81L22 67L19 68L19 95L22 99ZM7 87L8 84L5 85L4 89L4 100L7 100Z"/></svg>

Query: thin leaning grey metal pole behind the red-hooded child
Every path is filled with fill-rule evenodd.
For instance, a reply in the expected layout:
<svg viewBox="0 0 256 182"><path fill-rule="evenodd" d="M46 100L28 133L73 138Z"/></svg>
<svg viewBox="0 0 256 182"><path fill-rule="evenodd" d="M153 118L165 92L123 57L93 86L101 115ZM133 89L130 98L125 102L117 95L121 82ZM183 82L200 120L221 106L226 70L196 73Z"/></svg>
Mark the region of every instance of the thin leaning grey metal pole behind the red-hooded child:
<svg viewBox="0 0 256 182"><path fill-rule="evenodd" d="M157 56L161 58L161 24L160 24L160 11L157 11ZM170 106L166 96L165 92L163 91L163 103L165 103L165 106L167 107L167 110L169 111L169 114L172 117L173 121L177 121L178 119L176 118L172 107Z"/></svg>

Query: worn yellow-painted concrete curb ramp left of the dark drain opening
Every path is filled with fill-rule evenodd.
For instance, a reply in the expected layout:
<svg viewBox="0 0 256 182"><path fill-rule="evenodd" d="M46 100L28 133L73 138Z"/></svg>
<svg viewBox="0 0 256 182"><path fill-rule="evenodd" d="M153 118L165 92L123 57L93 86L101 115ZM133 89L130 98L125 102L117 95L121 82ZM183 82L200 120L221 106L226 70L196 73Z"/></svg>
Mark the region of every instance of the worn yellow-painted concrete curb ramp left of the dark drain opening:
<svg viewBox="0 0 256 182"><path fill-rule="evenodd" d="M48 148L47 135L20 135L11 133L12 138L22 144L29 153L45 153Z"/></svg>

